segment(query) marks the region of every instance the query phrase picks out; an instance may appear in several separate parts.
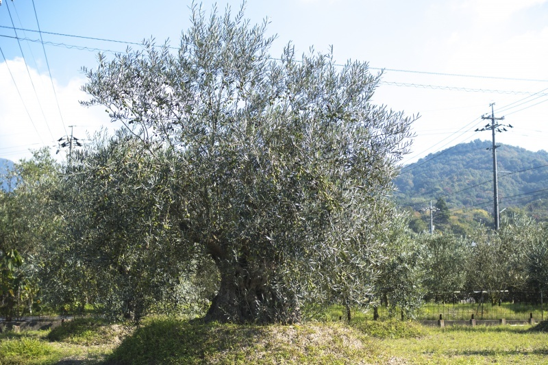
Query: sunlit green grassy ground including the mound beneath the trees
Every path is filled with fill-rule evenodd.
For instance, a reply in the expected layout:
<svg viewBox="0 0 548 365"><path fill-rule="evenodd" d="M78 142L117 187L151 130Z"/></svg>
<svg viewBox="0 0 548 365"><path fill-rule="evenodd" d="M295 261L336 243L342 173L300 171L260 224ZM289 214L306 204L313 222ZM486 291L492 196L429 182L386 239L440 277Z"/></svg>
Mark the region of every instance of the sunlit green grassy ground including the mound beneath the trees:
<svg viewBox="0 0 548 365"><path fill-rule="evenodd" d="M51 331L0 333L2 365L548 364L547 355L548 332L508 325L438 329L359 320L238 326L154 318L131 329L79 319Z"/></svg>

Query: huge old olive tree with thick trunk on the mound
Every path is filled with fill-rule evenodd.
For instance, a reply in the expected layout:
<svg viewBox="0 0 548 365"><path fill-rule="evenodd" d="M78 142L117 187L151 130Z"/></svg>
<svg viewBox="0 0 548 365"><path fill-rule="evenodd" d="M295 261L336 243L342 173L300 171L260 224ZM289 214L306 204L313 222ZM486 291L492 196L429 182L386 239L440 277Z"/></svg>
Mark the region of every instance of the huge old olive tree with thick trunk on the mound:
<svg viewBox="0 0 548 365"><path fill-rule="evenodd" d="M396 214L412 118L371 103L380 75L367 64L298 60L291 45L271 58L265 32L242 10L193 5L176 52L147 42L85 70L84 105L105 106L151 156L175 156L179 236L162 244L190 269L215 262L211 320L288 323L334 292L366 301Z"/></svg>

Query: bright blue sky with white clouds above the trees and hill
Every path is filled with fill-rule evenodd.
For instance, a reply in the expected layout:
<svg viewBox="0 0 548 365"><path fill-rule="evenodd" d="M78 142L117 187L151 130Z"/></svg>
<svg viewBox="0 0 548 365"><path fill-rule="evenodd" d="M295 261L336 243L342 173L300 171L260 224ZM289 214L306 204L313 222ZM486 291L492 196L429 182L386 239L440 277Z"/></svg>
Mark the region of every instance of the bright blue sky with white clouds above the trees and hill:
<svg viewBox="0 0 548 365"><path fill-rule="evenodd" d="M71 133L113 131L102 108L79 104L89 99L80 90L82 66L94 68L99 50L112 57L144 39L176 46L190 4L1 0L0 158L29 158L44 146L54 154ZM219 12L236 13L241 4L216 2ZM201 5L210 12L214 2ZM403 164L491 140L490 131L475 131L488 123L482 115L491 103L495 117L513 126L497 133L497 143L548 149L548 0L249 0L245 17L268 18L267 34L277 35L273 57L288 42L297 53L332 46L338 64L383 70L372 102L419 116Z"/></svg>

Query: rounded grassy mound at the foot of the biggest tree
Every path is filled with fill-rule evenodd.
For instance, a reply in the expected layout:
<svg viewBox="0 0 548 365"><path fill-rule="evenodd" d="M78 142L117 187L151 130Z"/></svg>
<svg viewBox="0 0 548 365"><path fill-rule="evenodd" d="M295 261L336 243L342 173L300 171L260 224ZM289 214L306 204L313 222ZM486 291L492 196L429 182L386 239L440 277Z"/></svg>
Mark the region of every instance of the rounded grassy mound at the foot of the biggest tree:
<svg viewBox="0 0 548 365"><path fill-rule="evenodd" d="M154 320L126 338L116 364L360 364L371 363L368 336L343 323L221 325Z"/></svg>

